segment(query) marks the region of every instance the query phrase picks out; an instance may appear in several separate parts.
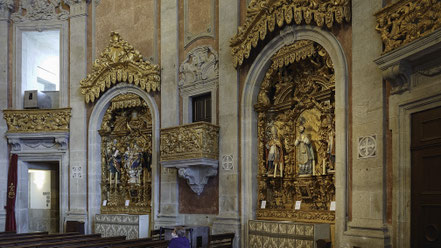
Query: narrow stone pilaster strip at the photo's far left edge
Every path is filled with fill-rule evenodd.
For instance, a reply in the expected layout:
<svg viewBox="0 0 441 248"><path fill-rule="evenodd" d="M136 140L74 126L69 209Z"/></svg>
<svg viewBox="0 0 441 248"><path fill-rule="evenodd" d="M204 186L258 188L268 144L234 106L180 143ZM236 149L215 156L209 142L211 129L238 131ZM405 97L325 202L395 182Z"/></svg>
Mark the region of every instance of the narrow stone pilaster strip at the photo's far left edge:
<svg viewBox="0 0 441 248"><path fill-rule="evenodd" d="M9 43L9 11L13 7L13 1L0 2L0 110L8 108L8 43ZM9 167L8 143L3 135L8 128L3 119L3 112L0 111L0 231L5 229L6 212L3 206L6 205L6 183Z"/></svg>

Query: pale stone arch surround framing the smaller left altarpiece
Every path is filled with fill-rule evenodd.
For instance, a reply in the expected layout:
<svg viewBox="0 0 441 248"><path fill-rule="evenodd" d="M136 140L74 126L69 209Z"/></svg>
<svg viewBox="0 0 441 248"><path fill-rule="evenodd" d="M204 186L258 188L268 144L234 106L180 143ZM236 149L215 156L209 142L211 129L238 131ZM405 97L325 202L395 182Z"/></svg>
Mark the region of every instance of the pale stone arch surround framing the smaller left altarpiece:
<svg viewBox="0 0 441 248"><path fill-rule="evenodd" d="M106 91L94 106L89 119L88 128L88 219L93 223L96 214L100 213L101 201L101 129L103 117L112 99L121 94L132 93L139 96L147 104L152 117L152 199L151 216L157 216L159 210L159 110L154 98L138 86L119 83ZM154 219L150 219L154 222ZM90 226L93 230L93 224Z"/></svg>

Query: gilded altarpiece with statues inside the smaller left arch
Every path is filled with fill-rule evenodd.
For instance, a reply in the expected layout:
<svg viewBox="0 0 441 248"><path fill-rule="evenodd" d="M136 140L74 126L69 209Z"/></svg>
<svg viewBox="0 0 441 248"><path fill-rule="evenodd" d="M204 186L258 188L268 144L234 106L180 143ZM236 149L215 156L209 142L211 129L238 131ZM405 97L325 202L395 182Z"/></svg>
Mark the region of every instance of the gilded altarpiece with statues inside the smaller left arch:
<svg viewBox="0 0 441 248"><path fill-rule="evenodd" d="M102 214L151 210L152 117L135 94L112 99L101 129Z"/></svg>

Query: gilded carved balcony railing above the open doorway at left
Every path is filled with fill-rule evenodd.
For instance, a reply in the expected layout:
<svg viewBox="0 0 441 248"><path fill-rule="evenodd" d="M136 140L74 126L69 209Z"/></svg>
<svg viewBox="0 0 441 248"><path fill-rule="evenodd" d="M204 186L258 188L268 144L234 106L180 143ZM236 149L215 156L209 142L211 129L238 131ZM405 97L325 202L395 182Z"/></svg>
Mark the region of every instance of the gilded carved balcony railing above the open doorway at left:
<svg viewBox="0 0 441 248"><path fill-rule="evenodd" d="M69 131L70 108L3 110L8 133Z"/></svg>

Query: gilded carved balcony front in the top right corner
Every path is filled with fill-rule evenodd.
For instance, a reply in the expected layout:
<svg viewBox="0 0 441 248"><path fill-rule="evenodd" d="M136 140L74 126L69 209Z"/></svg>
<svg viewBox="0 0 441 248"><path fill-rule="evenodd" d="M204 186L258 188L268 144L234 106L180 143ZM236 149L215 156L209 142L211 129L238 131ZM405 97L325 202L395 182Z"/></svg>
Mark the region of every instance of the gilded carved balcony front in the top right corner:
<svg viewBox="0 0 441 248"><path fill-rule="evenodd" d="M391 52L441 27L441 2L401 0L375 14L383 53Z"/></svg>

